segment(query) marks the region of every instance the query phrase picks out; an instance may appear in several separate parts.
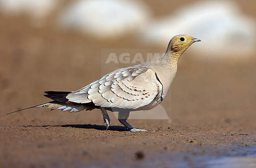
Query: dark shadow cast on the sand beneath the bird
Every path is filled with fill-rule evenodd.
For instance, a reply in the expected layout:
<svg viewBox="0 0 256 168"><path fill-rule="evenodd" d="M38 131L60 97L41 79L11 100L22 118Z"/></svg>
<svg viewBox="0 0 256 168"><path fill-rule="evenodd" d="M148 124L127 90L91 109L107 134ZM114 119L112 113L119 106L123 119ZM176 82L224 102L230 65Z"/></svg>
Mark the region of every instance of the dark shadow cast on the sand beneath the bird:
<svg viewBox="0 0 256 168"><path fill-rule="evenodd" d="M106 126L102 125L92 125L92 124L66 124L66 125L45 125L42 127L71 127L71 128L84 128L84 129L95 129L95 130L106 130ZM126 127L124 126L109 126L108 130L110 131L127 131Z"/></svg>

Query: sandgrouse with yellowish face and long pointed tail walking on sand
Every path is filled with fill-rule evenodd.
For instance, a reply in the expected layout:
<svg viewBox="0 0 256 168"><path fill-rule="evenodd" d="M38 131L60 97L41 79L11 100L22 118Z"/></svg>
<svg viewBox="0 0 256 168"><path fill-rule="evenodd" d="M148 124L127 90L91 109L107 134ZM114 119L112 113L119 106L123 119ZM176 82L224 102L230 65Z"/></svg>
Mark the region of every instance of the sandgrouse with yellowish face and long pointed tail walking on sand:
<svg viewBox="0 0 256 168"><path fill-rule="evenodd" d="M126 121L130 111L150 110L163 101L176 75L180 56L198 41L201 40L177 35L158 60L113 71L76 91L46 91L45 96L52 101L30 108L48 107L69 113L98 108L102 111L106 129L110 123L107 110L118 111L118 119L127 130L147 131L133 128ZM22 110L26 109L29 108Z"/></svg>

